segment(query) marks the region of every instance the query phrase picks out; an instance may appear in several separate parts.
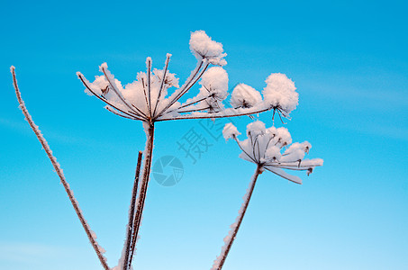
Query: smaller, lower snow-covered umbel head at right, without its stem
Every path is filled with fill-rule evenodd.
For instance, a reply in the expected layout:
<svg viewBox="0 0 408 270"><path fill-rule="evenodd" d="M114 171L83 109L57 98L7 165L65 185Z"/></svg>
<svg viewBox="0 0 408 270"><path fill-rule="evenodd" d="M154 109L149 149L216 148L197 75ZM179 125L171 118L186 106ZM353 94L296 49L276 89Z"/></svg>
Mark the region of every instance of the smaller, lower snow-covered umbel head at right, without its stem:
<svg viewBox="0 0 408 270"><path fill-rule="evenodd" d="M233 124L227 123L222 135L224 139L234 139L238 143L242 150L240 158L297 184L302 184L302 179L287 174L283 169L304 170L310 175L314 167L323 165L321 158L304 159L312 145L307 141L292 143L286 128L266 128L262 121L254 121L247 126L248 138L240 141L240 132Z"/></svg>

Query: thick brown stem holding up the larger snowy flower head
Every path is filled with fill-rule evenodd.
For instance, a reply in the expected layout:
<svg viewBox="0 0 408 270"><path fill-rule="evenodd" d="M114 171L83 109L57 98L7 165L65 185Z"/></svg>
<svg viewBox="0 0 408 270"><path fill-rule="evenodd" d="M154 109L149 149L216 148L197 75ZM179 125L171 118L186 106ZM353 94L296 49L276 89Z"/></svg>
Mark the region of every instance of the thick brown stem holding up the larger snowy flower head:
<svg viewBox="0 0 408 270"><path fill-rule="evenodd" d="M133 221L133 236L131 239L131 257L129 258L129 267L131 266L131 260L134 255L134 250L136 246L136 242L138 240L139 229L141 227L141 217L143 214L144 202L146 199L146 192L148 190L148 184L150 179L150 168L151 168L151 157L153 152L153 141L154 141L154 122L149 123L149 129L146 130L146 149L145 149L145 156L143 161L143 178L141 181L141 189L139 191L138 202L136 206L136 214L134 216Z"/></svg>

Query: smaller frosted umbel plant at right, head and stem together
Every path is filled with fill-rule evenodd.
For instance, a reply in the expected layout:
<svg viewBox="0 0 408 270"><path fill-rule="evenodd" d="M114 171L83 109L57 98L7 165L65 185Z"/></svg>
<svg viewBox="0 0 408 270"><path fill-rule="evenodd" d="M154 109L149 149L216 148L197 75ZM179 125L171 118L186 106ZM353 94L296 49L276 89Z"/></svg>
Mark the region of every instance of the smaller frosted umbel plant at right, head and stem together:
<svg viewBox="0 0 408 270"><path fill-rule="evenodd" d="M271 97L272 98L272 97ZM285 99L286 97L283 97ZM286 107L286 110L290 108ZM225 262L226 257L231 249L232 242L237 236L238 229L247 211L250 197L254 191L258 175L264 170L270 171L296 184L302 184L302 179L295 175L287 174L286 170L306 171L307 175L313 172L316 166L322 166L321 158L304 159L304 156L309 153L312 145L304 141L302 143L292 143L292 138L286 128L276 128L274 126L266 128L262 121L254 121L247 126L247 139L240 141L238 136L240 132L237 128L227 123L222 130L224 139L234 139L242 152L240 158L249 162L255 163L257 169L249 184L247 193L245 194L239 211L239 215L235 222L231 225L229 235L224 238L224 246L219 257L213 263L212 270L220 270Z"/></svg>

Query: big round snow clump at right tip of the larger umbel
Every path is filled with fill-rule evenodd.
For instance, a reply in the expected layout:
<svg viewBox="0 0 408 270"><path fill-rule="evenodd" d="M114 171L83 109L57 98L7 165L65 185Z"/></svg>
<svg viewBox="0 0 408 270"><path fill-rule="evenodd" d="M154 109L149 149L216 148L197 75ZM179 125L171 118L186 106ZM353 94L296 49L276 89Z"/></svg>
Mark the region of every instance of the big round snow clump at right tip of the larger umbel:
<svg viewBox="0 0 408 270"><path fill-rule="evenodd" d="M291 79L285 74L272 73L265 82L267 86L262 94L268 105L282 110L286 116L295 110L299 94L295 92L295 83Z"/></svg>

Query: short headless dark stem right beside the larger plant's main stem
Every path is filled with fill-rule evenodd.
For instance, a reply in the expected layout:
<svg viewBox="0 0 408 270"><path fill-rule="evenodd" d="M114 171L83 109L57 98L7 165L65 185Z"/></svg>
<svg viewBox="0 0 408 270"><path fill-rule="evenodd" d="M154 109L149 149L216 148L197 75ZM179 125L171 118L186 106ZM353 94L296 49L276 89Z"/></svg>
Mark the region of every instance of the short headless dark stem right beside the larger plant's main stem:
<svg viewBox="0 0 408 270"><path fill-rule="evenodd" d="M136 195L138 193L138 186L139 186L139 176L141 175L141 156L142 153L141 151L139 152L138 156L138 165L136 166L136 174L134 175L134 183L133 183L133 189L131 190L131 206L129 209L129 222L127 228L127 235L126 235L126 241L125 241L125 256L123 262L123 270L128 269L128 262L129 262L129 255L131 251L131 235L133 231L133 218L134 218L134 208L135 208L135 203L136 203Z"/></svg>

